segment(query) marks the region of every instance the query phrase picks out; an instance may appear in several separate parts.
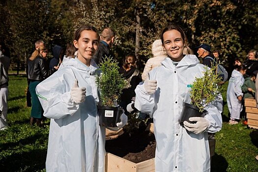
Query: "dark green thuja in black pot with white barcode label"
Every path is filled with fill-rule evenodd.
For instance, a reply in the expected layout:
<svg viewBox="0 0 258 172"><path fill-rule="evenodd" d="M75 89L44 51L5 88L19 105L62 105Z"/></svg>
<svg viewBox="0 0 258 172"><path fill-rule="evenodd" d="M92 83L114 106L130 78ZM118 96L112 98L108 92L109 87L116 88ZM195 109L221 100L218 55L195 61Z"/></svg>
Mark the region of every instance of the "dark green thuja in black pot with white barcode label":
<svg viewBox="0 0 258 172"><path fill-rule="evenodd" d="M100 105L97 108L101 126L116 127L123 112L122 108L117 106L117 102L126 83L118 69L118 62L113 57L103 57L98 69L101 74L96 78L100 90Z"/></svg>

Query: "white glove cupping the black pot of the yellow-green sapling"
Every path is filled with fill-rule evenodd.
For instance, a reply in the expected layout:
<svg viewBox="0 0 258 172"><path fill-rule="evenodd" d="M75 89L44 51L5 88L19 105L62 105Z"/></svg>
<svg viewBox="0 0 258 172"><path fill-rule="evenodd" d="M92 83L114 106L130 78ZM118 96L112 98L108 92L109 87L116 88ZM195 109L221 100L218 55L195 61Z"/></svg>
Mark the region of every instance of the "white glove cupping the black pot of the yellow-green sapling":
<svg viewBox="0 0 258 172"><path fill-rule="evenodd" d="M196 123L192 124L187 121L184 121L184 127L188 131L191 131L195 134L201 134L209 126L209 121L207 119L205 119L204 117L190 117L189 121L192 121L192 122L196 121Z"/></svg>

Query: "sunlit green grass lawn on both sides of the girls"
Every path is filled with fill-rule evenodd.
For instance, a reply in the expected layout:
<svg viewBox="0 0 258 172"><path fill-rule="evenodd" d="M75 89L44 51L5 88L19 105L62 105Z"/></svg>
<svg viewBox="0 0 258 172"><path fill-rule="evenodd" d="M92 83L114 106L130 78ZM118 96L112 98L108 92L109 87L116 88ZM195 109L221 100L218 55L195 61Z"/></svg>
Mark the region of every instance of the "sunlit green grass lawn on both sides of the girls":
<svg viewBox="0 0 258 172"><path fill-rule="evenodd" d="M227 88L228 83L224 84ZM25 76L10 76L9 128L0 131L0 172L45 172L49 119L44 127L30 126ZM223 128L216 133L211 172L258 172L258 130L242 123L229 125L226 92L223 93Z"/></svg>

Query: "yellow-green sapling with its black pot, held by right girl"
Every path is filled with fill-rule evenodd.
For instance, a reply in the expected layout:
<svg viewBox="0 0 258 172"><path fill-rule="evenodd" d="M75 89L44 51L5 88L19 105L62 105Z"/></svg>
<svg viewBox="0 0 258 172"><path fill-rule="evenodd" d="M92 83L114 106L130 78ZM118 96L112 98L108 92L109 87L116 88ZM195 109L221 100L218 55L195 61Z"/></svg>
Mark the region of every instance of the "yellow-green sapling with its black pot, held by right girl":
<svg viewBox="0 0 258 172"><path fill-rule="evenodd" d="M215 72L217 65L211 65L209 69L205 66L205 71L201 78L196 78L191 85L190 98L191 104L183 103L183 109L180 115L179 123L184 126L183 122L186 120L190 123L189 117L204 117L208 112L204 108L222 91L221 78Z"/></svg>

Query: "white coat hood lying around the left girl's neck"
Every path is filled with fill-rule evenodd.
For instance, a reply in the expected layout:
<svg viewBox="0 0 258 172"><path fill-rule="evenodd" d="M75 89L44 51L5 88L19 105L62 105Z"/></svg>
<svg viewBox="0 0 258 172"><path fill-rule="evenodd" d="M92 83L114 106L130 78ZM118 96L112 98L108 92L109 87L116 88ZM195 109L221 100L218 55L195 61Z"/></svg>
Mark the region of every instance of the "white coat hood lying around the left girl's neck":
<svg viewBox="0 0 258 172"><path fill-rule="evenodd" d="M99 68L93 59L90 60L90 66L86 66L86 64L79 61L77 57L67 58L65 61L62 62L62 65L63 67L73 66L80 70L89 71L91 75L95 74L97 72L97 69Z"/></svg>

